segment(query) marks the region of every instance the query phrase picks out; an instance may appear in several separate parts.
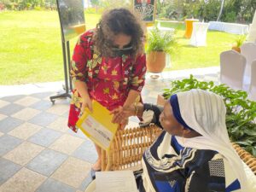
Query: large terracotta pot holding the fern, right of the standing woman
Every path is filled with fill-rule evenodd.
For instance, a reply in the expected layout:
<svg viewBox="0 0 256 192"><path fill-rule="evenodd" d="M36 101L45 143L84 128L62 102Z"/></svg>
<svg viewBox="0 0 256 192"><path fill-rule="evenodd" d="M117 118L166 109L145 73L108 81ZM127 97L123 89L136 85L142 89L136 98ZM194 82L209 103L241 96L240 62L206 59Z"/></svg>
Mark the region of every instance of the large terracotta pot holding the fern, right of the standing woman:
<svg viewBox="0 0 256 192"><path fill-rule="evenodd" d="M147 55L147 69L151 73L161 73L166 67L166 53L152 51Z"/></svg>

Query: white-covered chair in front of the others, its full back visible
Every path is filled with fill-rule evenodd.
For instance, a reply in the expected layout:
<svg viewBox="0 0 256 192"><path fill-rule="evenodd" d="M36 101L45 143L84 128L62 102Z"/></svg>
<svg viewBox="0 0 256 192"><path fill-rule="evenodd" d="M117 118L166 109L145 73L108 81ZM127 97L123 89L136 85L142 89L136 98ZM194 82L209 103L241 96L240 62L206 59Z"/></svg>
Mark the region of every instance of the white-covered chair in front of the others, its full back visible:
<svg viewBox="0 0 256 192"><path fill-rule="evenodd" d="M242 90L246 58L235 50L220 54L220 82L234 90Z"/></svg>

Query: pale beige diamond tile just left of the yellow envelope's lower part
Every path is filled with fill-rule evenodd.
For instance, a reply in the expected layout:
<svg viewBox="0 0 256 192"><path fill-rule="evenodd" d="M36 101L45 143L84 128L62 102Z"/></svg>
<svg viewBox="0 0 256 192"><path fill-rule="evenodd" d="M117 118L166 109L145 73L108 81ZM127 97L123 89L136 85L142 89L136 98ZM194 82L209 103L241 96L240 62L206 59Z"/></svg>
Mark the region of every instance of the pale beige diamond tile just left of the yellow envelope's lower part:
<svg viewBox="0 0 256 192"><path fill-rule="evenodd" d="M83 139L65 134L58 138L55 143L52 143L49 148L64 154L73 154L73 151L79 148L82 143L84 143Z"/></svg>

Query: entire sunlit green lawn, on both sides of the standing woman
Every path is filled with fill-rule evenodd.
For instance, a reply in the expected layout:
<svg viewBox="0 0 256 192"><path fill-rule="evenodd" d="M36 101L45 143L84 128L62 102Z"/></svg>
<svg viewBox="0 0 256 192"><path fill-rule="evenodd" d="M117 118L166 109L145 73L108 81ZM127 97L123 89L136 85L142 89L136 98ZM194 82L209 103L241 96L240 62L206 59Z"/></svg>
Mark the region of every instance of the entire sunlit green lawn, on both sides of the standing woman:
<svg viewBox="0 0 256 192"><path fill-rule="evenodd" d="M85 15L87 29L95 27L100 15ZM170 24L164 24L169 25ZM177 26L179 55L173 69L218 66L219 54L230 49L236 35L208 32L207 47L194 48ZM61 30L56 11L0 12L0 84L27 84L63 80ZM71 52L77 38L71 41Z"/></svg>

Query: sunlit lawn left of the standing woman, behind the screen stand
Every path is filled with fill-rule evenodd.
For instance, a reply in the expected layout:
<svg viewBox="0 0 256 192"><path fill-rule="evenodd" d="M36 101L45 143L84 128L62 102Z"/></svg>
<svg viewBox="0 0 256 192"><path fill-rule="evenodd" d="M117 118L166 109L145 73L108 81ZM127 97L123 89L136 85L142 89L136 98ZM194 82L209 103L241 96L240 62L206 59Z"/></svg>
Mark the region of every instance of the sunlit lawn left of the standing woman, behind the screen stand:
<svg viewBox="0 0 256 192"><path fill-rule="evenodd" d="M100 15L85 15L95 27ZM56 11L0 12L0 84L64 79L61 30ZM77 38L70 41L73 52Z"/></svg>

